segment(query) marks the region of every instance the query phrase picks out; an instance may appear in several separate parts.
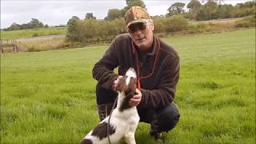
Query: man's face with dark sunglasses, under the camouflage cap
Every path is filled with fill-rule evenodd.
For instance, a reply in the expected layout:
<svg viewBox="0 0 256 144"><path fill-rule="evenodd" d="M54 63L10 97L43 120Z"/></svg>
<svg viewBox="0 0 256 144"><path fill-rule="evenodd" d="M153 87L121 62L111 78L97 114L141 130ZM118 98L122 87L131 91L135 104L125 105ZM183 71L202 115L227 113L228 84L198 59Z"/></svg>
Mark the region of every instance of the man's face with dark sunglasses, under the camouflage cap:
<svg viewBox="0 0 256 144"><path fill-rule="evenodd" d="M138 46L139 50L150 50L153 44L153 22L138 22L128 27L130 38Z"/></svg>

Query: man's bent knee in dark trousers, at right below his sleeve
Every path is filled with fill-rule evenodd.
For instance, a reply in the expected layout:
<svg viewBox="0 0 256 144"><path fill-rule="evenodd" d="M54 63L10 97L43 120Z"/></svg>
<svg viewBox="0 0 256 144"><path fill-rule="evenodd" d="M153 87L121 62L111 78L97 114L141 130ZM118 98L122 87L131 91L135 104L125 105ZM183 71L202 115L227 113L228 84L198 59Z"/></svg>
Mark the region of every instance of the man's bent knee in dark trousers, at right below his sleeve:
<svg viewBox="0 0 256 144"><path fill-rule="evenodd" d="M173 129L180 118L178 107L174 102L164 108L159 114L159 125L162 131L169 131Z"/></svg>

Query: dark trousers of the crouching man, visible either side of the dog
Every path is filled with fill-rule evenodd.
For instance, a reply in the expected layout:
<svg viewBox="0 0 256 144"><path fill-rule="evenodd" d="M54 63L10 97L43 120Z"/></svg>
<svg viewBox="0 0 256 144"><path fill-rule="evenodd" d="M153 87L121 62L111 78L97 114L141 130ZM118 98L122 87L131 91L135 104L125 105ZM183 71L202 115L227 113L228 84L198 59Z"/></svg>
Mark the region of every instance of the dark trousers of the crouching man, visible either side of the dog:
<svg viewBox="0 0 256 144"><path fill-rule="evenodd" d="M96 86L96 97L98 104L98 114L102 121L110 114L110 110L114 105L114 100L117 98L117 92L114 90L106 90L101 86ZM142 109L137 107L140 122L150 123L150 134L156 134L163 131L169 131L178 123L180 114L178 107L174 102L163 109Z"/></svg>

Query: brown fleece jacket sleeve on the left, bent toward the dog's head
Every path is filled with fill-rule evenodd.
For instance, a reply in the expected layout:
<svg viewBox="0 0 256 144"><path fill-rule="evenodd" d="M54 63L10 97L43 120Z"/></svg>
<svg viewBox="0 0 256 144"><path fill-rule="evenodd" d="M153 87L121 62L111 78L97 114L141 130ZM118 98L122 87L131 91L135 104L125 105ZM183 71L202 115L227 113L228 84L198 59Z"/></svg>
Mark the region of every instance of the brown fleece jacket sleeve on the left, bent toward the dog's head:
<svg viewBox="0 0 256 144"><path fill-rule="evenodd" d="M118 66L118 54L115 41L111 42L110 47L106 50L92 70L93 77L98 84L106 89L113 89L114 80L118 78L118 74L114 74L114 68Z"/></svg>

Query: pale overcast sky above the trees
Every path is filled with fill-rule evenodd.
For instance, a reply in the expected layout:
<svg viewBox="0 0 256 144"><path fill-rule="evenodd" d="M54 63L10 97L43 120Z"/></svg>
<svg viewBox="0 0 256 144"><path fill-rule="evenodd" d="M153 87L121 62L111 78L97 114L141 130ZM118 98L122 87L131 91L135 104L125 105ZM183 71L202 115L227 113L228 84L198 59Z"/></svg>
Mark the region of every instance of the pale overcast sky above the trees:
<svg viewBox="0 0 256 144"><path fill-rule="evenodd" d="M251 0L225 0L226 4L247 2ZM165 15L174 2L188 3L190 0L144 0L151 16ZM202 0L199 0L202 2ZM97 19L106 17L109 9L122 9L125 0L1 0L1 28L13 22L28 23L37 18L43 24L58 26L65 24L72 16L85 18L86 13L93 13Z"/></svg>

